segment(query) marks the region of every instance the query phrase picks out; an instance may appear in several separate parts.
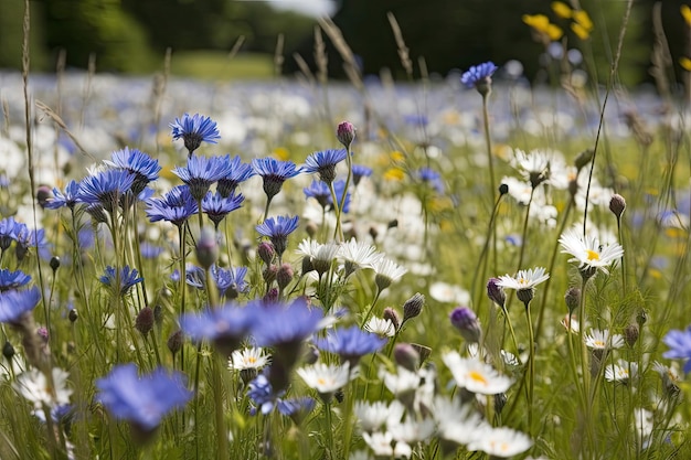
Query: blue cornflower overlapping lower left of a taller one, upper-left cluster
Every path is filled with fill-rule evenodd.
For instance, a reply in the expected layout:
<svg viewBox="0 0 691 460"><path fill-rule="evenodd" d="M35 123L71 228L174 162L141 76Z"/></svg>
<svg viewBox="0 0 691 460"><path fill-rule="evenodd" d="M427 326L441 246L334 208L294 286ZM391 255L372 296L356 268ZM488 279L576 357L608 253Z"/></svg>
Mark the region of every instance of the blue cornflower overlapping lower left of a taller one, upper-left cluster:
<svg viewBox="0 0 691 460"><path fill-rule="evenodd" d="M100 204L113 213L120 199L131 190L135 174L126 170L105 170L87 175L79 183L78 201L87 204Z"/></svg>

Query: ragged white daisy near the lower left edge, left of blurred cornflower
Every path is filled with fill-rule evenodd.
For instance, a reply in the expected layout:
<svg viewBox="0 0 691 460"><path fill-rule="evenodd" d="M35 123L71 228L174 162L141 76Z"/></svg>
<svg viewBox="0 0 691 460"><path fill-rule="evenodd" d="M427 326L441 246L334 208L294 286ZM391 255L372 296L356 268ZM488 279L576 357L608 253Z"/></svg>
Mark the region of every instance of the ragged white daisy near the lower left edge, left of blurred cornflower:
<svg viewBox="0 0 691 460"><path fill-rule="evenodd" d="M36 409L70 404L72 389L66 387L70 374L60 367L53 367L53 382L49 382L42 372L35 368L17 377L12 385L24 398L33 403Z"/></svg>

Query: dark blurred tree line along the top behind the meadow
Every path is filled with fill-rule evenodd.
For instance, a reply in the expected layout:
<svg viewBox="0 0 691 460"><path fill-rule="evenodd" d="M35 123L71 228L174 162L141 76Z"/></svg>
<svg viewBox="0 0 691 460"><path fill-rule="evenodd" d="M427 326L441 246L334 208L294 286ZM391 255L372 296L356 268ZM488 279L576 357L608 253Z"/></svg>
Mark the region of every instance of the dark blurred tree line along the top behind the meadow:
<svg viewBox="0 0 691 460"><path fill-rule="evenodd" d="M573 21L555 14L542 0L333 0L333 15L364 74L382 67L404 76L386 13L395 15L415 65L424 57L430 73L446 74L492 60L520 61L530 78L544 73L546 43L524 23L524 14L544 14L564 31L559 43L577 49L584 68L606 81L616 47L626 1L581 0L593 29L587 39L572 29ZM273 54L277 35L285 36L284 72L298 71L293 54L315 68L313 29L317 22L293 12L277 11L264 1L238 0L32 0L32 68L54 68L59 50L67 65L86 67L96 56L99 71L145 73L161 67L168 47L176 51L228 51L245 36L243 51ZM565 3L570 3L565 0ZM619 75L623 83L649 81L655 41L655 0L636 0L624 45ZM681 56L691 57L689 28L680 14L688 0L663 0L661 20L679 81ZM21 66L23 0L0 0L0 67ZM329 72L343 76L342 60L330 44ZM554 47L552 47L554 52ZM554 54L554 53L553 53ZM540 56L543 55L543 58ZM576 64L577 66L578 64Z"/></svg>

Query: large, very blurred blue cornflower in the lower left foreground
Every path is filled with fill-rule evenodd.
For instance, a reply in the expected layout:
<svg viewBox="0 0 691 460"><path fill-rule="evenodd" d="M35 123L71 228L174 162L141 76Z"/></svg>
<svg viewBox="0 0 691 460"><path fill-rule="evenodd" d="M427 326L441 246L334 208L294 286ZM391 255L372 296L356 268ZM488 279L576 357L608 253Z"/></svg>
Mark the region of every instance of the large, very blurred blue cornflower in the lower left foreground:
<svg viewBox="0 0 691 460"><path fill-rule="evenodd" d="M192 397L183 374L158 367L140 377L134 363L113 367L110 374L96 381L96 387L97 399L108 411L142 435L150 435L163 416L184 407Z"/></svg>

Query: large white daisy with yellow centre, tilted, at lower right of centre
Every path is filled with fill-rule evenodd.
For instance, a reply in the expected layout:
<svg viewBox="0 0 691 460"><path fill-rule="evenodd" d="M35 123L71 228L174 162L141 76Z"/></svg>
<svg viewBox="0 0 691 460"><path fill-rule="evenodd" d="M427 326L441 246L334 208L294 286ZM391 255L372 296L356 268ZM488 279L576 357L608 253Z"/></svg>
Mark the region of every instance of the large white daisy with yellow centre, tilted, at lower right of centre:
<svg viewBox="0 0 691 460"><path fill-rule="evenodd" d="M460 357L458 352L449 352L442 360L451 371L456 385L468 392L496 395L511 386L511 378L499 374L491 365L477 359Z"/></svg>

